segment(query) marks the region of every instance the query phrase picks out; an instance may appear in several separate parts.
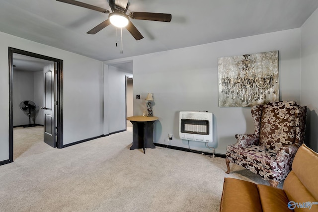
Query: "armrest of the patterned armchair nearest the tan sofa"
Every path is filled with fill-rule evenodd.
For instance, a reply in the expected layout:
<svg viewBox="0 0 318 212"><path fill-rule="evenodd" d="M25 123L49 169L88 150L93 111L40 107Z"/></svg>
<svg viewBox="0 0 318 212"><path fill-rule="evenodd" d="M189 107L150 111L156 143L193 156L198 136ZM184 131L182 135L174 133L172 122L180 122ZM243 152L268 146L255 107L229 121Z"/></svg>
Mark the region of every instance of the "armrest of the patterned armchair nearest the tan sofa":
<svg viewBox="0 0 318 212"><path fill-rule="evenodd" d="M278 151L275 157L277 162L277 167L280 170L285 169L287 173L292 170L292 163L295 157L295 154L298 150L298 146L295 144L288 144L282 146Z"/></svg>

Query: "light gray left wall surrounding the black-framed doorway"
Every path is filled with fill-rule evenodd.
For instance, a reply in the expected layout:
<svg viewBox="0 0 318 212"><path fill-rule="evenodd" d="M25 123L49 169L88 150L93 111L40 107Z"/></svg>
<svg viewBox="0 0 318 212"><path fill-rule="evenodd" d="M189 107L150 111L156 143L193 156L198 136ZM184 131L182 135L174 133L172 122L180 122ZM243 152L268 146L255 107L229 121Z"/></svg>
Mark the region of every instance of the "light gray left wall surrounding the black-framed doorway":
<svg viewBox="0 0 318 212"><path fill-rule="evenodd" d="M8 47L64 61L64 144L102 135L103 63L0 32L0 161L8 159Z"/></svg>

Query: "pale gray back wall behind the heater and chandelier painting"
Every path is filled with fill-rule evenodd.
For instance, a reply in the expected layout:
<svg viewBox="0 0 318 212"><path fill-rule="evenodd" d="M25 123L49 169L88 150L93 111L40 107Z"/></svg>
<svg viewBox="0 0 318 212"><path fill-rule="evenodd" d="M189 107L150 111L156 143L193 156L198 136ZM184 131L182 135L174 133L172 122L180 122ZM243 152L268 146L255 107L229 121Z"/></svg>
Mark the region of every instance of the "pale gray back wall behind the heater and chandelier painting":
<svg viewBox="0 0 318 212"><path fill-rule="evenodd" d="M254 125L250 108L218 107L218 58L273 50L279 50L280 99L300 103L300 29L292 29L122 59L133 60L134 95L141 94L140 100L134 99L134 115L142 115L144 99L153 93L154 116L159 117L155 142L168 144L167 134L172 133L170 144L187 148L178 136L179 111L212 112L212 146L224 154L236 142L235 134L253 133ZM202 142L189 144L210 151Z"/></svg>

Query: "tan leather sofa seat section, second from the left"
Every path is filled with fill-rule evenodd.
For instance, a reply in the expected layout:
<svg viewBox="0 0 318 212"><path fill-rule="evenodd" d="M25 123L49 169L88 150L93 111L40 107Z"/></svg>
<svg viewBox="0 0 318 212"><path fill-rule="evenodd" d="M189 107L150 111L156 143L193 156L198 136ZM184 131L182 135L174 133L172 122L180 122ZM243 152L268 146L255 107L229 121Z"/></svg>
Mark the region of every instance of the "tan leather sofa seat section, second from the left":
<svg viewBox="0 0 318 212"><path fill-rule="evenodd" d="M263 212L291 212L288 198L282 189L257 185Z"/></svg>

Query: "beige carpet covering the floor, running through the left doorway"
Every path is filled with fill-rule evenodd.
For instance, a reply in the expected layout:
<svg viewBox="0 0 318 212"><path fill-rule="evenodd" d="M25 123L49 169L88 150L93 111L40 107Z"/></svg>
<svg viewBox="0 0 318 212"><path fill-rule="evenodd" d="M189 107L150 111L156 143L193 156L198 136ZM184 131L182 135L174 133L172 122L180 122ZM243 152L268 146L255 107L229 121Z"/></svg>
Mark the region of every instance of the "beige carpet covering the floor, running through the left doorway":
<svg viewBox="0 0 318 212"><path fill-rule="evenodd" d="M16 159L0 166L1 212L218 212L224 177L266 184L234 164L225 174L220 157L130 150L131 128L63 149L42 141L43 128L14 131Z"/></svg>

